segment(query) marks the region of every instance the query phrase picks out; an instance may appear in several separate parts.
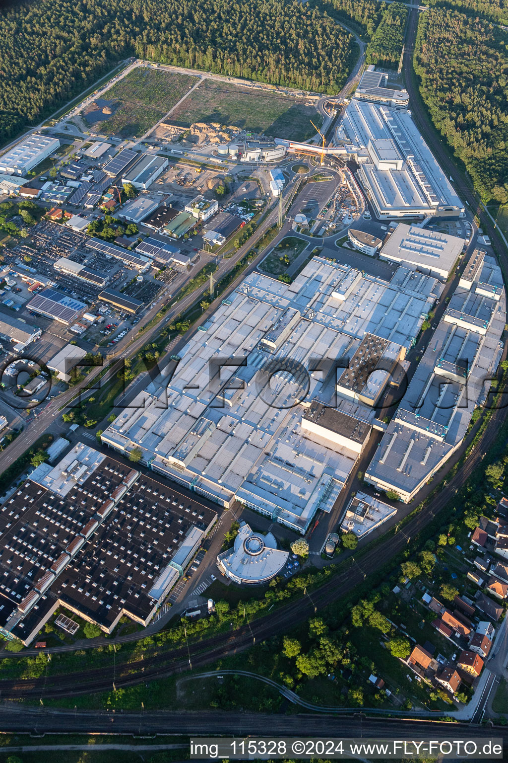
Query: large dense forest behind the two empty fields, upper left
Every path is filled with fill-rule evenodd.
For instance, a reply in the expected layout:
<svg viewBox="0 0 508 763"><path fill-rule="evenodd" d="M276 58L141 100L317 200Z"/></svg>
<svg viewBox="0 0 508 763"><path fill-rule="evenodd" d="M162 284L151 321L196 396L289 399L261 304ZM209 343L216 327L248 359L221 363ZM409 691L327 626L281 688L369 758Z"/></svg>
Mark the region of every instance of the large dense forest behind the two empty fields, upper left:
<svg viewBox="0 0 508 763"><path fill-rule="evenodd" d="M350 34L297 0L25 2L0 14L0 40L0 143L128 56L332 93L356 57Z"/></svg>

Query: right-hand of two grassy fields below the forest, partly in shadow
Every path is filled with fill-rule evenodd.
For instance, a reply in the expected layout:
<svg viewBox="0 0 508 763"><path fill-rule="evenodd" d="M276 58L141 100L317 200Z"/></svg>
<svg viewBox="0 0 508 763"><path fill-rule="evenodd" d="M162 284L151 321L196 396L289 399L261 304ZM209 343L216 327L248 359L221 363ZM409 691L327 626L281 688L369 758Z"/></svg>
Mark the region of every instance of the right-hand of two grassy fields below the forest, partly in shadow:
<svg viewBox="0 0 508 763"><path fill-rule="evenodd" d="M179 106L171 120L185 127L195 122L218 122L290 140L304 140L315 134L314 106L276 92L230 85L206 79Z"/></svg>

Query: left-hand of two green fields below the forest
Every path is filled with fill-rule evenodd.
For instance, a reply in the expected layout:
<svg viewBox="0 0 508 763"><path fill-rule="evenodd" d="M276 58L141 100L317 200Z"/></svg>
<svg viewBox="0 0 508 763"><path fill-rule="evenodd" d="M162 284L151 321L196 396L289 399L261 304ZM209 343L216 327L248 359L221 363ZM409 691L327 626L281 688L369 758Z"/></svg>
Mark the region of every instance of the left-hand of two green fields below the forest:
<svg viewBox="0 0 508 763"><path fill-rule="evenodd" d="M104 93L120 101L112 117L92 129L109 135L139 136L165 116L195 84L196 77L138 66Z"/></svg>

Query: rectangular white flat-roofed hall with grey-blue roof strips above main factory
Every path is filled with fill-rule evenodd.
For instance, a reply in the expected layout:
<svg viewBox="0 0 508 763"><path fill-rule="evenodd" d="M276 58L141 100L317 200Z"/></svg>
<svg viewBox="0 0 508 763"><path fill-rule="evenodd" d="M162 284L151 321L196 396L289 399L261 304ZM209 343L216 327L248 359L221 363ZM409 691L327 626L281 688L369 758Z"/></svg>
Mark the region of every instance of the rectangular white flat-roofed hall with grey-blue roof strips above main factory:
<svg viewBox="0 0 508 763"><path fill-rule="evenodd" d="M446 281L464 246L465 239L457 236L399 223L388 233L379 256Z"/></svg>

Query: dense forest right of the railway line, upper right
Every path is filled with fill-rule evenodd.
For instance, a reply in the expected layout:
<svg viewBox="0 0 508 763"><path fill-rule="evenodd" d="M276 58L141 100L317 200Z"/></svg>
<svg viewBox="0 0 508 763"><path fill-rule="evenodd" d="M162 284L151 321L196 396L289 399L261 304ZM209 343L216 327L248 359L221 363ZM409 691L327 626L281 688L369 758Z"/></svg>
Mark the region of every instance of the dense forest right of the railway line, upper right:
<svg viewBox="0 0 508 763"><path fill-rule="evenodd" d="M445 8L421 14L414 68L434 124L484 199L508 202L508 44L495 24Z"/></svg>

